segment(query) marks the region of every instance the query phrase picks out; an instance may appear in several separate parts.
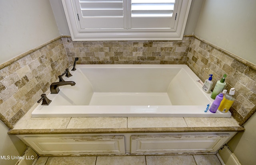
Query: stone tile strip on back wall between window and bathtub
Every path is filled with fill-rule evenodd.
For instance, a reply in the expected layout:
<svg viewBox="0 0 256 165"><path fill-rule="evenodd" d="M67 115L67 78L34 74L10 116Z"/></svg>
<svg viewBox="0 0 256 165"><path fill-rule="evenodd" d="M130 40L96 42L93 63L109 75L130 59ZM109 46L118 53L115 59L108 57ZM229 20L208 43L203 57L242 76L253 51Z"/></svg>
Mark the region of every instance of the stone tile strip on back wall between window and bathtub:
<svg viewBox="0 0 256 165"><path fill-rule="evenodd" d="M185 64L193 37L182 41L72 41L62 38L70 63Z"/></svg>

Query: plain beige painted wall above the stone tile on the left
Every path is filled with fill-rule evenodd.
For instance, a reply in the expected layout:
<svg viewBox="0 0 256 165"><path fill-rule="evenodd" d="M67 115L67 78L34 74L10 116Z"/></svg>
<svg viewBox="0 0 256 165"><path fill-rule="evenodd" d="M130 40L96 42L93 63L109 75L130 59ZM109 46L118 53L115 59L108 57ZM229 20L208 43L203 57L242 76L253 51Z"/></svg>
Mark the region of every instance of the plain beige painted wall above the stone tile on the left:
<svg viewBox="0 0 256 165"><path fill-rule="evenodd" d="M0 64L60 35L49 0L1 0L0 16Z"/></svg>

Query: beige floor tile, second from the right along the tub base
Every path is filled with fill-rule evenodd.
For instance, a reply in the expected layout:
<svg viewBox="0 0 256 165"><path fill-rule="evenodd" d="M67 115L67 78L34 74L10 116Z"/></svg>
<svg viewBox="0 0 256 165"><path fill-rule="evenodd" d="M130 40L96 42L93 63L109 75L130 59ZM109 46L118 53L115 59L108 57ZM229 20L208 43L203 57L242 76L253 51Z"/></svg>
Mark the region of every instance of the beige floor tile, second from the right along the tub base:
<svg viewBox="0 0 256 165"><path fill-rule="evenodd" d="M196 165L193 155L146 156L147 165Z"/></svg>

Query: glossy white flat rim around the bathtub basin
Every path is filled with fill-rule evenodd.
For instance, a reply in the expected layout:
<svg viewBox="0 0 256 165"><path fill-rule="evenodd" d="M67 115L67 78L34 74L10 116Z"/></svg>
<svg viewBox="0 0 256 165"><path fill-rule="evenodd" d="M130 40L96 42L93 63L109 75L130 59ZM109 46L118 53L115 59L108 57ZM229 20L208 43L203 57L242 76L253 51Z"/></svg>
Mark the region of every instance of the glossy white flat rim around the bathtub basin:
<svg viewBox="0 0 256 165"><path fill-rule="evenodd" d="M72 66L70 66L72 68ZM188 67L188 65L185 64L171 64L171 65L155 65L155 64L145 64L145 65L134 65L134 64L117 64L117 65L111 65L111 64L79 64L76 65L76 69L79 68L181 68L188 73L188 76L193 80L193 82L198 86L198 88L202 88L202 84L199 82L196 82L197 80L200 80L196 74ZM71 70L71 69L70 69ZM74 73L74 71L70 71L71 73ZM58 80L57 80L58 81ZM201 81L201 80L200 80ZM202 92L209 100L209 103L212 104L214 101L210 95L210 93L205 93ZM40 105L38 105L40 106ZM37 107L38 107L37 106ZM84 106L86 106L86 111L84 111ZM89 106L89 105L84 105L84 106L78 106L76 105L76 108L78 109L77 112L73 112L73 114L68 114L68 111L72 109L72 106L51 106L54 108L55 111L60 111L62 114L59 115L58 113L53 113L50 110L45 110L48 111L48 114L45 114L45 112L42 113L41 110L47 109L46 106L42 106L41 110L38 111L38 108L36 107L35 110L32 112L32 117L230 117L231 113L228 111L227 113L221 113L221 112L216 112L216 113L211 113L209 110L208 112L204 112L206 105L205 106L174 106L172 105L172 110L168 109L167 106L157 106L159 113L154 112L151 113L150 111L145 112L144 114L142 113L134 113L134 114L129 114L128 109L135 108L139 111L146 110L147 106L122 106L122 108L125 107L125 112L120 113L120 107L121 106L108 106L110 108L109 110L114 110L114 112L118 113L106 113L102 111L98 111L98 106ZM152 106L153 107L153 106ZM156 106L154 106L156 107ZM174 109L173 109L174 108ZM184 112L185 108L190 108L193 113L188 113ZM90 109L90 110L88 110ZM174 111L175 110L175 111ZM96 112L96 113L92 113ZM170 113L170 111L172 111ZM176 112L178 111L178 113ZM157 114L157 115L156 115ZM114 115L114 116L113 116Z"/></svg>

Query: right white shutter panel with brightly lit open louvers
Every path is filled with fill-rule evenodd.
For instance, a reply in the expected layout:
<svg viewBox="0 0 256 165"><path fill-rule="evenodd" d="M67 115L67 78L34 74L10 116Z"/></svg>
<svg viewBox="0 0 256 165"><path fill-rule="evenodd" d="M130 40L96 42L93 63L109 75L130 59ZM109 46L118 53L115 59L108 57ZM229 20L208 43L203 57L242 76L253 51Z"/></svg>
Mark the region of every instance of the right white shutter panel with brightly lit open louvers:
<svg viewBox="0 0 256 165"><path fill-rule="evenodd" d="M131 29L175 29L182 0L131 0Z"/></svg>

